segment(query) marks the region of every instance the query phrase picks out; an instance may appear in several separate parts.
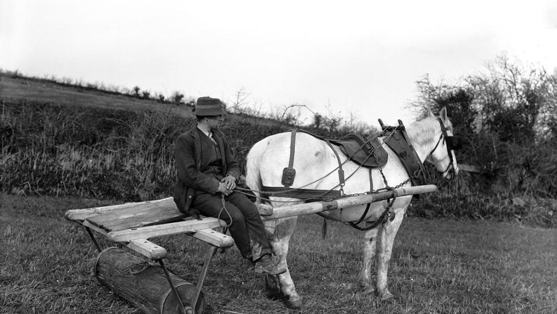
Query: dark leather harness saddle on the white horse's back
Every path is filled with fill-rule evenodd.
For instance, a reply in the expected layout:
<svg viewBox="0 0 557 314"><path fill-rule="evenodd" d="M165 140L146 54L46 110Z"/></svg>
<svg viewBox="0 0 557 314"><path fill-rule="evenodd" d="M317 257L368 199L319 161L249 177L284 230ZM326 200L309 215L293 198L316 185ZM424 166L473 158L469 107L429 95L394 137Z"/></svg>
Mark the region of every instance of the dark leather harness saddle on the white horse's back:
<svg viewBox="0 0 557 314"><path fill-rule="evenodd" d="M358 134L349 134L343 141L331 141L339 145L340 150L355 163L366 167L384 166L389 154L383 148L377 136L372 139Z"/></svg>

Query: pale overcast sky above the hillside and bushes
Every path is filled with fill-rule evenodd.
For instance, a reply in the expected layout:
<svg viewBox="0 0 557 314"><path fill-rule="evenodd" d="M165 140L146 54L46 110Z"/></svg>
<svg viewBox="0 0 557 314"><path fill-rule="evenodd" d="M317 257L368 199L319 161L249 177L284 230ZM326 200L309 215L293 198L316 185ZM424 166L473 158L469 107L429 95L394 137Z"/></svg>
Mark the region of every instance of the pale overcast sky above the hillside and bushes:
<svg viewBox="0 0 557 314"><path fill-rule="evenodd" d="M554 1L381 2L0 0L0 67L227 102L244 87L375 126L413 119L426 73L453 81L503 52L557 67Z"/></svg>

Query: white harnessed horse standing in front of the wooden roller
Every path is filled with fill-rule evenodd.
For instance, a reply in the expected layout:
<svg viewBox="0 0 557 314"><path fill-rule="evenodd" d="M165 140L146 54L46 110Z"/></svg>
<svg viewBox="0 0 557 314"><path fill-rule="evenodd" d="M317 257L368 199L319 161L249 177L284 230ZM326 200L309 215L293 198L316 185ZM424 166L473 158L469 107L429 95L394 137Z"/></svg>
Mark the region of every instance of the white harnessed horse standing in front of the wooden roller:
<svg viewBox="0 0 557 314"><path fill-rule="evenodd" d="M437 117L431 114L426 119L414 122L407 128L407 134L410 144L416 150L419 159L423 162L430 161L436 165L438 171L443 173L444 178L450 179L451 171L454 170L455 175L458 173L456 157L453 150L447 149L447 145L451 145L452 124L447 118L447 111L443 108L439 114L442 124L446 127L446 133L442 133L442 126ZM261 191L262 186L266 187L282 187L282 170L289 164L290 158L290 137L291 133L280 133L268 136L253 145L247 155L247 185L256 191ZM397 155L383 145L389 154L388 162L383 166L383 173L391 187L402 183L409 178L407 171L400 163ZM338 146L333 146L341 161L346 160L346 156L340 152ZM449 146L451 148L451 146ZM448 152L452 156L449 156ZM452 157L452 160L451 160ZM296 176L291 188L304 187L305 189L328 190L336 187L338 190L339 177L336 171L338 168L338 159L325 141L314 138L305 133L297 133L295 141L295 158L294 167ZM451 168L453 169L449 169ZM359 168L358 164L348 161L343 164L343 169L347 176L351 173L354 175L346 179L344 185L345 194L363 193L369 190L370 174L372 171L374 189L384 188L382 175L379 169ZM330 173L330 171L332 171ZM325 178L325 174L330 173ZM316 181L315 183L312 183ZM308 183L312 183L307 185ZM403 187L409 186L406 183ZM260 194L256 193L259 197ZM280 207L285 203L277 203L275 201L291 200L292 203L303 203L299 199L285 197L270 197L273 207ZM260 200L260 199L258 199ZM363 293L375 292L382 300L393 298L393 295L387 288L387 268L392 252L393 242L397 234L400 223L404 217L406 208L412 200L411 196L396 198L392 210L395 213L393 220L387 219L387 222L380 224L377 228L365 232L364 235L364 254L363 263L361 264L359 274L359 284ZM297 201L297 202L296 202ZM387 209L387 201L372 203L367 218L364 220L377 219L377 217ZM341 222L354 222L359 220L363 215L365 205L344 208L343 210L334 210L328 212L328 218ZM369 218L368 218L369 217ZM266 230L271 239L273 251L279 259L280 266L288 269L286 256L288 254L289 241L296 225L297 217L282 218L276 220L266 220ZM377 253L377 284L372 285L370 278L372 261ZM302 298L297 294L294 282L290 277L290 270L278 276L267 276L267 289L271 293L280 293L285 303L290 308L300 308Z"/></svg>

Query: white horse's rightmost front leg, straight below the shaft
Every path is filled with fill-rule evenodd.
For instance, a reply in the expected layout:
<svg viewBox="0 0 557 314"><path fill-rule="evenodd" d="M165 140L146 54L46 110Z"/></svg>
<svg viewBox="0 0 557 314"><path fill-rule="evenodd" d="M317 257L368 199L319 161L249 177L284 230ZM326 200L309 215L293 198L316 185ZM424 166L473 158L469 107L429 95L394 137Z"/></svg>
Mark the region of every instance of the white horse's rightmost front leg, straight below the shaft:
<svg viewBox="0 0 557 314"><path fill-rule="evenodd" d="M398 228L404 212L398 211L393 221L387 220L379 227L379 237L377 246L377 293L381 300L393 298L392 293L387 288L387 272L389 268L390 255L393 251L394 237L397 235Z"/></svg>

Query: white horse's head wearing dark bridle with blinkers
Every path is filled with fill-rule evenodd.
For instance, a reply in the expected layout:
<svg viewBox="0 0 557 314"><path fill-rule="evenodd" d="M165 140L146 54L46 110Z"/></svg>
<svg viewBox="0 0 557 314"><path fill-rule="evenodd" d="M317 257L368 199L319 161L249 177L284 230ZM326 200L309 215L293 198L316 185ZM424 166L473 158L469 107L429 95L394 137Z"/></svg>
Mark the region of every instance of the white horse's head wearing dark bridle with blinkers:
<svg viewBox="0 0 557 314"><path fill-rule="evenodd" d="M426 160L436 165L437 170L443 173L443 178L450 180L453 178L453 175L458 174L455 150L462 147L462 141L453 135L452 123L447 117L447 109L445 107L441 109L439 116L435 118L439 122L437 126L438 132L436 132L438 140Z"/></svg>

